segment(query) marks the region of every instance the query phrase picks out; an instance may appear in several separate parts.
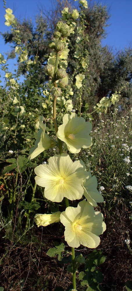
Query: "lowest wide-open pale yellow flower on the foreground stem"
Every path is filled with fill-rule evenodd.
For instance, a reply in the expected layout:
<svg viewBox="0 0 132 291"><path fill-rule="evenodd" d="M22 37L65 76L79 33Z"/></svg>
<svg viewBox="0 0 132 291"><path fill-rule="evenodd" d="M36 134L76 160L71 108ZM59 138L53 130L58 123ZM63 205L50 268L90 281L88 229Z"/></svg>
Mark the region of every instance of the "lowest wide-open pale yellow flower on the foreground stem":
<svg viewBox="0 0 132 291"><path fill-rule="evenodd" d="M65 226L65 240L73 248L80 244L96 248L100 243L99 235L106 230L103 214L94 211L93 206L84 200L76 208L67 207L60 214L60 222Z"/></svg>

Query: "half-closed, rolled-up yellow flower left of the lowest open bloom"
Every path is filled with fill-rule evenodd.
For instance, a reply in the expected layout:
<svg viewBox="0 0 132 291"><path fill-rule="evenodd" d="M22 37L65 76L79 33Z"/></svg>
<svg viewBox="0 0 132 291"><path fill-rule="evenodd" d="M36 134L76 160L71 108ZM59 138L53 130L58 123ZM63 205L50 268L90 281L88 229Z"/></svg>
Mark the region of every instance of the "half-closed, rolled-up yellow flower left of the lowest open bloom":
<svg viewBox="0 0 132 291"><path fill-rule="evenodd" d="M47 226L54 222L60 221L61 212L55 212L53 214L36 214L34 217L35 223L39 226Z"/></svg>

